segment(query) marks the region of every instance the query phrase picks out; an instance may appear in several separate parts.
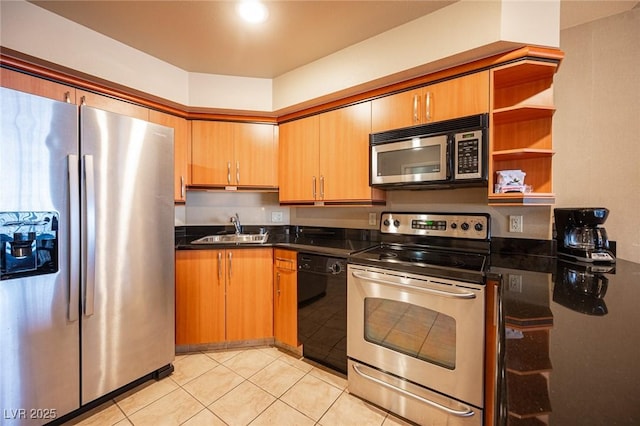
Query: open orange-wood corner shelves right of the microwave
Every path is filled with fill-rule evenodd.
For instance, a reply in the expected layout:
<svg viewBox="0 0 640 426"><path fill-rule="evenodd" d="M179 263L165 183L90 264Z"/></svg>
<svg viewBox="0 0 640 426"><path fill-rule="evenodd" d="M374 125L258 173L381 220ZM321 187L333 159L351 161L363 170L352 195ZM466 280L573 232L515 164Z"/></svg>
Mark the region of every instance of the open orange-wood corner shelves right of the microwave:
<svg viewBox="0 0 640 426"><path fill-rule="evenodd" d="M490 73L489 204L553 204L553 77L557 61L524 59ZM522 170L530 193L495 193L496 172Z"/></svg>

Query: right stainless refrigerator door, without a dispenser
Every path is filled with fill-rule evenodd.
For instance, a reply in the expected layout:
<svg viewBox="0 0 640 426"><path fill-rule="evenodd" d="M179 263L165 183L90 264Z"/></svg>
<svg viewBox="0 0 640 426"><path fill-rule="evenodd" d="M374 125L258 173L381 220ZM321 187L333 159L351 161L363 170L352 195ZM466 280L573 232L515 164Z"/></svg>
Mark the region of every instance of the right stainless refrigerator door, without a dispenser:
<svg viewBox="0 0 640 426"><path fill-rule="evenodd" d="M174 359L173 129L80 107L82 404Z"/></svg>

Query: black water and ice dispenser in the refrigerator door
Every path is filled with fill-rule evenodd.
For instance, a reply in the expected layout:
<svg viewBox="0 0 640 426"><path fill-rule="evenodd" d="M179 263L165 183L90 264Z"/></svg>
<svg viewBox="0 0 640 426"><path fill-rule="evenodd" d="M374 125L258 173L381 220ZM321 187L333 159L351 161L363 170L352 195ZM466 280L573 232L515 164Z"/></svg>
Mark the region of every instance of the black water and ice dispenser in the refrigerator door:
<svg viewBox="0 0 640 426"><path fill-rule="evenodd" d="M58 213L0 212L0 279L58 271Z"/></svg>

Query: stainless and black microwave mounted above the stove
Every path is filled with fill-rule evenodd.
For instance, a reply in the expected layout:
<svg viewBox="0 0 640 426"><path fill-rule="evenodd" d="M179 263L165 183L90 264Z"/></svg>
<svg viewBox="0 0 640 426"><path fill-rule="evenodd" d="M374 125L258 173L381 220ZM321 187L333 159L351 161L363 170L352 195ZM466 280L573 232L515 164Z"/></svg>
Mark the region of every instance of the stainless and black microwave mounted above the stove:
<svg viewBox="0 0 640 426"><path fill-rule="evenodd" d="M489 115L369 135L369 184L392 188L486 186Z"/></svg>

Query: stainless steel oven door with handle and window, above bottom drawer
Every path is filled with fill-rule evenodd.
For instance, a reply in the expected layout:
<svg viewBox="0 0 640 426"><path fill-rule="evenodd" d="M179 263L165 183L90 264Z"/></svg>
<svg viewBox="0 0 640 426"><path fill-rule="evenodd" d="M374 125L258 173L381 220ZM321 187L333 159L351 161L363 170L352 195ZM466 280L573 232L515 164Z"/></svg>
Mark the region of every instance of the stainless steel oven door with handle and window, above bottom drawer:
<svg viewBox="0 0 640 426"><path fill-rule="evenodd" d="M484 310L482 284L350 264L347 354L482 408Z"/></svg>

